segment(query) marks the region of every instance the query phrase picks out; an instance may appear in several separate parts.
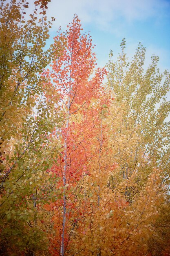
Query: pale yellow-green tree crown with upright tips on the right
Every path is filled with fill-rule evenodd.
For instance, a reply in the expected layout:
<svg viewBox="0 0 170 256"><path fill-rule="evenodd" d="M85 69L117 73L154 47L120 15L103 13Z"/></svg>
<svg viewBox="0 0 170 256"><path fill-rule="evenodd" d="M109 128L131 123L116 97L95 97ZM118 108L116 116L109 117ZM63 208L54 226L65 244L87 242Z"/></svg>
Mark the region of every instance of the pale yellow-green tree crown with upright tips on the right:
<svg viewBox="0 0 170 256"><path fill-rule="evenodd" d="M170 123L166 121L166 117L169 115L170 102L167 101L166 94L170 90L170 74L167 70L160 73L157 67L159 58L155 55L152 56L149 67L144 69L146 50L141 44L132 61L128 62L124 51L125 45L123 40L121 54L115 62L112 60L113 52L110 52L108 63L108 88L112 88L115 97L113 120L115 124L117 121L119 124L115 127L114 135L117 145L115 161L119 163L119 168L111 176L110 185L116 189L120 183L126 184L124 195L126 200L132 203L135 195L146 184L148 175L156 168L161 175L160 187L163 184L162 189L166 189L164 203L167 204ZM135 183L128 185L127 181L133 179L133 175L136 175ZM153 202L156 204L155 199ZM159 206L159 211L161 210L162 213L165 213L166 209L168 205ZM163 218L163 216L159 217L157 224L152 223L159 235L160 221L163 221ZM166 213L165 219L167 218L169 217ZM162 225L166 225L163 223L164 221ZM152 236L154 240L155 237L158 237L157 233ZM164 239L163 233L162 238L160 236L157 238L159 239ZM154 251L155 248L152 247ZM165 249L165 246L163 248Z"/></svg>

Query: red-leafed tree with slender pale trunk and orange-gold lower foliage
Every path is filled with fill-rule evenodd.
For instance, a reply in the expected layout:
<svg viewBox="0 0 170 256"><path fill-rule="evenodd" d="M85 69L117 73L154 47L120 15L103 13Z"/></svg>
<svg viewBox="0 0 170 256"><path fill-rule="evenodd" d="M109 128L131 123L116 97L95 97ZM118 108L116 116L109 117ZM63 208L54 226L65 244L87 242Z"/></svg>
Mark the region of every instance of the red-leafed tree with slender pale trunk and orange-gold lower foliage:
<svg viewBox="0 0 170 256"><path fill-rule="evenodd" d="M137 152L141 167L137 164L128 177L122 171L123 152L126 164L132 162L131 151L143 137L121 128L124 108L101 85L104 70L89 77L95 56L79 22L76 16L56 37L63 42L62 56L46 72L66 120L57 131L63 141L60 159L51 169L60 177L57 200L44 207L52 215L50 253L145 255L163 200L162 175L154 162L147 166L144 148Z"/></svg>

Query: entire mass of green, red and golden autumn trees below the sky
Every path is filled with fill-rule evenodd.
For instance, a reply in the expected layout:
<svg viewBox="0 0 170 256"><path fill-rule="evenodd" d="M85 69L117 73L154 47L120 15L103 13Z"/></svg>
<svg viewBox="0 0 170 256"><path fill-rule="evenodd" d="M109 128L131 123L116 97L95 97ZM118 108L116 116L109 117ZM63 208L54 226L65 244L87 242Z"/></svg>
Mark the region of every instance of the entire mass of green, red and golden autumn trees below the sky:
<svg viewBox="0 0 170 256"><path fill-rule="evenodd" d="M1 0L0 254L169 255L170 74L96 68L77 16L45 50L48 2Z"/></svg>

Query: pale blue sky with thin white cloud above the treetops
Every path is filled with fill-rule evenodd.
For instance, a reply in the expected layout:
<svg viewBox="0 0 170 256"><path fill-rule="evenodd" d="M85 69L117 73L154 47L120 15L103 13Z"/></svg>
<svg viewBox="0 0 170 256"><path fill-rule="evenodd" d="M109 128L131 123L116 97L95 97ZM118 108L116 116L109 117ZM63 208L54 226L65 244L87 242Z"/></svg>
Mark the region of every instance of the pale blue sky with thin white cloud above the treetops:
<svg viewBox="0 0 170 256"><path fill-rule="evenodd" d="M84 32L91 31L98 65L108 61L110 49L116 57L122 38L128 56L139 42L146 47L146 66L150 56L160 58L161 70L170 70L170 0L51 0L48 17L55 17L51 38L77 13Z"/></svg>

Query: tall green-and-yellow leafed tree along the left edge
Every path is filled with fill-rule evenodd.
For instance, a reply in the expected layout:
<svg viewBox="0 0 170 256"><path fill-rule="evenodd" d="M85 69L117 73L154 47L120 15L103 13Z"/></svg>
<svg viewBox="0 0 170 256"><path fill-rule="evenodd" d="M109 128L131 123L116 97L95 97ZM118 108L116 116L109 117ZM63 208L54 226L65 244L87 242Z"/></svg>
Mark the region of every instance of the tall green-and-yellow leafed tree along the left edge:
<svg viewBox="0 0 170 256"><path fill-rule="evenodd" d="M41 188L52 188L46 170L55 162L58 142L48 134L60 122L57 95L55 104L45 97L52 87L43 69L59 51L59 45L44 50L54 20L46 21L48 2L35 1L29 18L24 0L0 5L1 254L47 246L36 205L45 200Z"/></svg>

